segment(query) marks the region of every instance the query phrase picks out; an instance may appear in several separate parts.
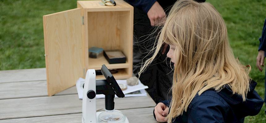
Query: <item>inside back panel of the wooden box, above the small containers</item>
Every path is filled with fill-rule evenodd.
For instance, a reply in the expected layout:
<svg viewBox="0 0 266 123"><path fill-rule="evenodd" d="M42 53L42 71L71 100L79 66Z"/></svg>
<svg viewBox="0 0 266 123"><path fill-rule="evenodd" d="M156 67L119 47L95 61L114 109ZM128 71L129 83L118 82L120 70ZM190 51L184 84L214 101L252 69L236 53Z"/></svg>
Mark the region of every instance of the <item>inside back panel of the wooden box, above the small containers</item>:
<svg viewBox="0 0 266 123"><path fill-rule="evenodd" d="M124 11L88 12L88 48L120 49L122 32L118 28L119 20L129 16L129 11L127 15L123 14Z"/></svg>

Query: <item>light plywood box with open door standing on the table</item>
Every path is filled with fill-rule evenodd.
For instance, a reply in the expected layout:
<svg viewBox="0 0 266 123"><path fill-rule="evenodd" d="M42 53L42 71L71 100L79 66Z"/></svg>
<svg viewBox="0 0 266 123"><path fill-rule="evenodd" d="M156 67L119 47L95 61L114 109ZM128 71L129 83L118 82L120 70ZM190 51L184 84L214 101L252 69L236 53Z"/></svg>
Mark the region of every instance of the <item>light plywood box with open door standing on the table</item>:
<svg viewBox="0 0 266 123"><path fill-rule="evenodd" d="M133 7L116 0L102 6L100 0L77 1L77 8L43 16L47 92L52 96L85 78L88 69L118 69L115 79L132 76ZM126 63L109 64L104 56L88 57L88 48L119 49ZM104 79L104 76L97 76Z"/></svg>

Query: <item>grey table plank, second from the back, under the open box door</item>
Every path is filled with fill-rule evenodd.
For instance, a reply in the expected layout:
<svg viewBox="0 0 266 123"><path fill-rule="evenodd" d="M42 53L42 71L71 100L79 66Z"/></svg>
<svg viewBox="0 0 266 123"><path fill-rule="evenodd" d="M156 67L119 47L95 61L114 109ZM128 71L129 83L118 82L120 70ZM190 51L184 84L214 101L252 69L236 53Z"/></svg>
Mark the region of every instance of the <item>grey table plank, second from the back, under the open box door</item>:
<svg viewBox="0 0 266 123"><path fill-rule="evenodd" d="M55 95L77 94L76 86L68 88ZM0 83L0 100L25 97L47 96L45 81Z"/></svg>

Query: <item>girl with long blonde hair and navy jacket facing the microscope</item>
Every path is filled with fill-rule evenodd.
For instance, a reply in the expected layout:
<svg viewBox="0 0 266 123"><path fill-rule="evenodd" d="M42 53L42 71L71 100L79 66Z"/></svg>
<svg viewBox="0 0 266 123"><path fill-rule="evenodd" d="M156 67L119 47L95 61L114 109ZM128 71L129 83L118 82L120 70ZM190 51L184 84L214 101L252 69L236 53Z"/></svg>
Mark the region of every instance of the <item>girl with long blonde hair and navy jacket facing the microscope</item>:
<svg viewBox="0 0 266 123"><path fill-rule="evenodd" d="M243 122L259 113L263 100L254 90L250 69L234 58L221 15L207 3L178 0L161 30L154 55L163 43L174 63L172 99L158 103L159 122Z"/></svg>

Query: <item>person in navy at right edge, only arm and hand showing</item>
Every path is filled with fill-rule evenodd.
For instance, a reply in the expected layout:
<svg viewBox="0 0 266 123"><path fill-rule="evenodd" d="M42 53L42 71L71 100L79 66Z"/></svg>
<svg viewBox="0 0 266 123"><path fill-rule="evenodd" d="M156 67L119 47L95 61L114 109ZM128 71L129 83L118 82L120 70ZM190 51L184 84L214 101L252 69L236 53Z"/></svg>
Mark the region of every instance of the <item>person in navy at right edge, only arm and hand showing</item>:
<svg viewBox="0 0 266 123"><path fill-rule="evenodd" d="M265 19L264 26L262 29L262 35L259 40L260 40L260 46L259 46L259 53L257 56L257 67L262 72L261 66L264 66L264 58L266 55L265 54L265 51L266 51L266 19ZM266 105L266 79L265 79L264 85L265 85L264 103ZM265 114L266 114L266 110L265 110Z"/></svg>

